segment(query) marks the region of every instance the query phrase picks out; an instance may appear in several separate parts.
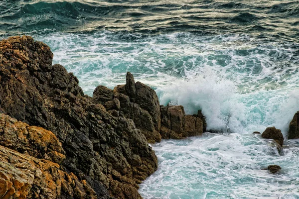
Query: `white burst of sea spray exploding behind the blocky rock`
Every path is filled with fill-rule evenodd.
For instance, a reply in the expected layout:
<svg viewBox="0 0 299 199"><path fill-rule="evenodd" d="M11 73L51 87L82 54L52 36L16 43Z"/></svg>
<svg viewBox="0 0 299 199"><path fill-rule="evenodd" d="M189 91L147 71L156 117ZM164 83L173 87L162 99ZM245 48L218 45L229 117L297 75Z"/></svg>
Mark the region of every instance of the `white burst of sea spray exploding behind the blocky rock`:
<svg viewBox="0 0 299 199"><path fill-rule="evenodd" d="M171 86L159 88L160 102L180 104L187 114L198 109L206 117L208 130L240 132L245 121L244 104L238 102L235 84L210 68L189 80L179 80ZM161 91L160 91L161 90Z"/></svg>

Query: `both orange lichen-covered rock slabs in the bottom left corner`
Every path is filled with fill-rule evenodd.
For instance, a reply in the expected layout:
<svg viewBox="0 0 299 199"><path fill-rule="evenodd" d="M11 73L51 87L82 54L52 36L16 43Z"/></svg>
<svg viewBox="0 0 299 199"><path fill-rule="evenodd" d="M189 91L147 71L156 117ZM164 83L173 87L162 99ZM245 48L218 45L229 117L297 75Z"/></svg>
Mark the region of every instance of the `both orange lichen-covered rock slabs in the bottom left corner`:
<svg viewBox="0 0 299 199"><path fill-rule="evenodd" d="M51 131L4 114L0 129L0 199L97 198L86 181L60 170L64 151Z"/></svg>

